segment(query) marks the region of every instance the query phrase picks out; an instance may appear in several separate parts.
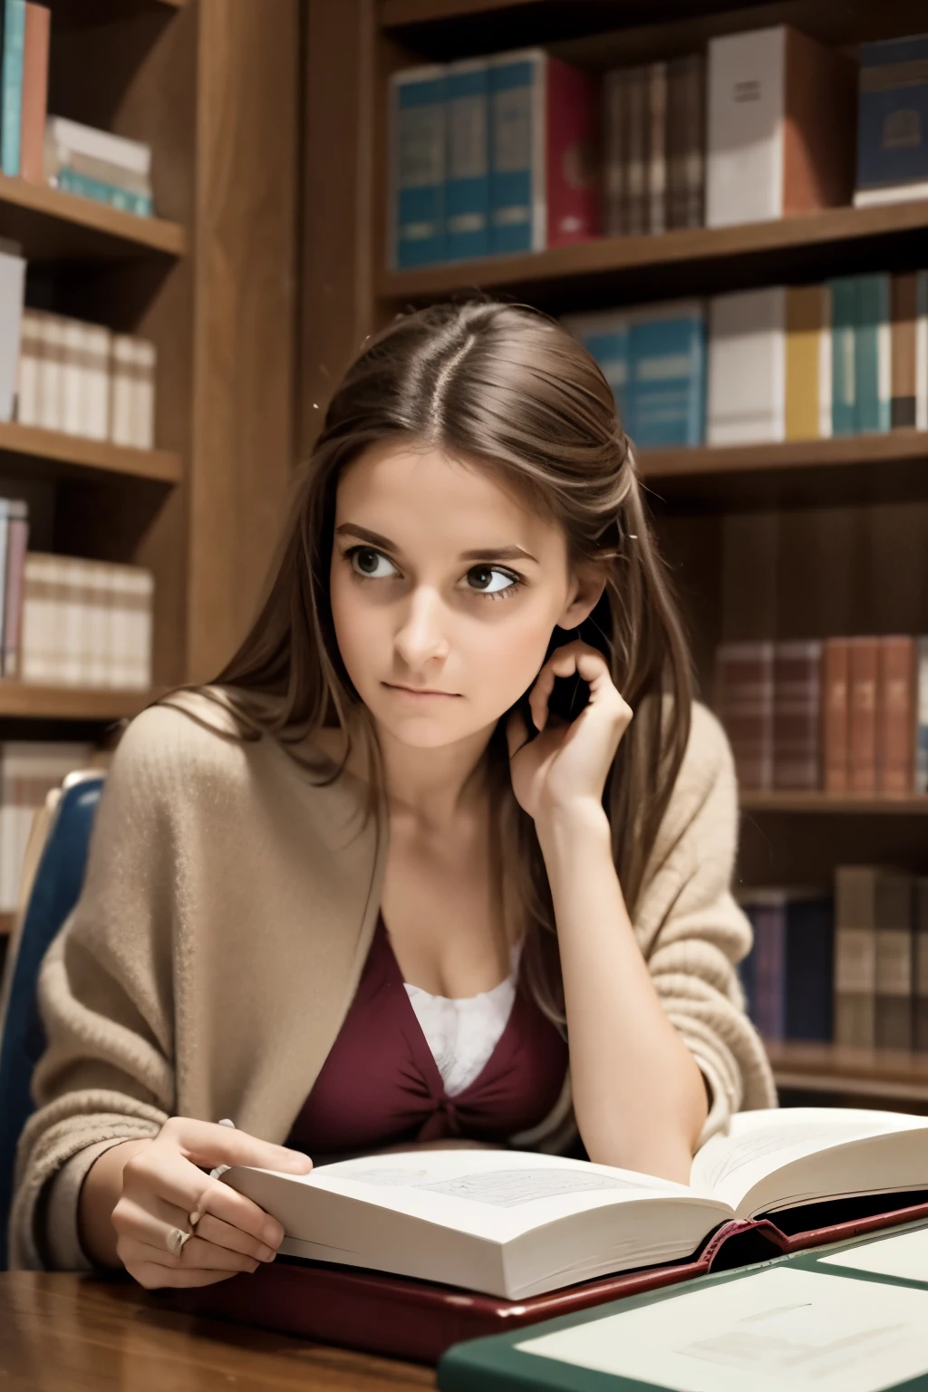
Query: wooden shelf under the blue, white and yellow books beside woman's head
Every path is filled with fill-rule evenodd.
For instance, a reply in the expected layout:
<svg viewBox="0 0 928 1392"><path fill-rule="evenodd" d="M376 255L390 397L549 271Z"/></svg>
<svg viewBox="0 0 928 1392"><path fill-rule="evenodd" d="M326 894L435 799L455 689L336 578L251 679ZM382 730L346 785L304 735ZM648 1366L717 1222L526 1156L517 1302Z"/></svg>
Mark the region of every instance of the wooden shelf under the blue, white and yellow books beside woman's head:
<svg viewBox="0 0 928 1392"><path fill-rule="evenodd" d="M639 476L671 508L717 511L924 498L928 432L787 440L782 444L643 450Z"/></svg>

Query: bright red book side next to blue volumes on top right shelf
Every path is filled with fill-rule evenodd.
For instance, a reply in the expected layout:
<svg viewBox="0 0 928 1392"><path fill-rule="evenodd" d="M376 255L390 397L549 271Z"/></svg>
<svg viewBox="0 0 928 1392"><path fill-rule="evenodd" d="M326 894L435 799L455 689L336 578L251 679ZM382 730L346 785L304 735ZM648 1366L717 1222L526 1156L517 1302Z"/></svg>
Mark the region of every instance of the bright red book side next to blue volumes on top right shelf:
<svg viewBox="0 0 928 1392"><path fill-rule="evenodd" d="M600 79L547 64L548 246L600 235Z"/></svg>

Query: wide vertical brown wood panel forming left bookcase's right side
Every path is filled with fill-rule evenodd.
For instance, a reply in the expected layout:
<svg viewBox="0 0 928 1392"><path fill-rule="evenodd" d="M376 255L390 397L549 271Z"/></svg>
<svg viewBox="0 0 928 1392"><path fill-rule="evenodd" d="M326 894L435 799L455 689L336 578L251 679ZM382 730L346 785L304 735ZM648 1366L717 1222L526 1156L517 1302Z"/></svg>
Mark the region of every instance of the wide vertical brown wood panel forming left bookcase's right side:
<svg viewBox="0 0 928 1392"><path fill-rule="evenodd" d="M252 617L294 464L296 0L200 0L188 672Z"/></svg>

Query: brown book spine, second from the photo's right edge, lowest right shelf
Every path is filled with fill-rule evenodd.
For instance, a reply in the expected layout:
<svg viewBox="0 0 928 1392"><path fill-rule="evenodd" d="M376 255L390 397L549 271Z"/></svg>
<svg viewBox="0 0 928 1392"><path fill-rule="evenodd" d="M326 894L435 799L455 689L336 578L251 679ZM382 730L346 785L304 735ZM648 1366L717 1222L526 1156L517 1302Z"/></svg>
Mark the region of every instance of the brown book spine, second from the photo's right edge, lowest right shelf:
<svg viewBox="0 0 928 1392"><path fill-rule="evenodd" d="M877 884L874 1044L913 1041L913 877L886 871Z"/></svg>

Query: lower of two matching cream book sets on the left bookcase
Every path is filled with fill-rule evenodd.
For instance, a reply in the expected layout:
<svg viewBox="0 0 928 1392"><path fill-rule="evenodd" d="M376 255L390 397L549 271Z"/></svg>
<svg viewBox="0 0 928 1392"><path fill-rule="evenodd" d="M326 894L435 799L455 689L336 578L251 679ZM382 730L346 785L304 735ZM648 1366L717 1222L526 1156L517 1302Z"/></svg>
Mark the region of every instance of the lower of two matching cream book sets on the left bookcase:
<svg viewBox="0 0 928 1392"><path fill-rule="evenodd" d="M29 553L22 585L22 681L152 686L154 576L138 565Z"/></svg>

